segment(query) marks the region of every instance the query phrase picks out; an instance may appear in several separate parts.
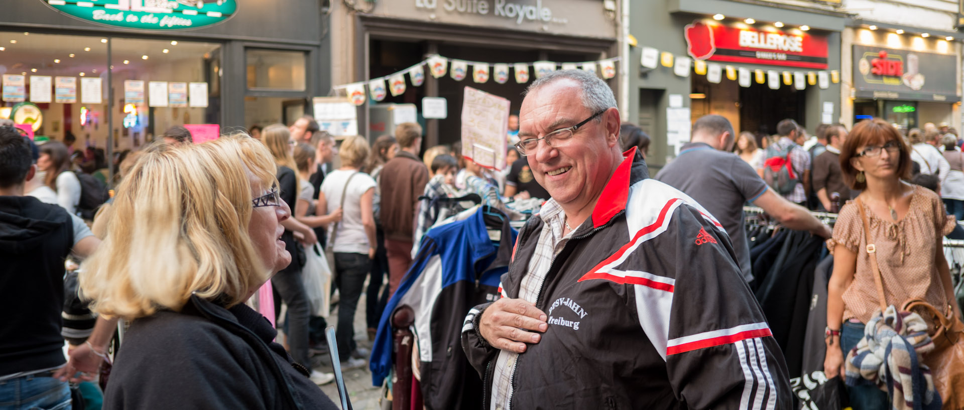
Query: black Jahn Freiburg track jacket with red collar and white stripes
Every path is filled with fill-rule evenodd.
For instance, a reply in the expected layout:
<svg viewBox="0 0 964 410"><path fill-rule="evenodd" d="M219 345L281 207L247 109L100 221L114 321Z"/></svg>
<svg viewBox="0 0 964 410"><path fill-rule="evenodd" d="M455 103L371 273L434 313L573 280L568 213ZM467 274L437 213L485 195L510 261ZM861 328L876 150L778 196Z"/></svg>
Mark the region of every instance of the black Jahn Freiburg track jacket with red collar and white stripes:
<svg viewBox="0 0 964 410"><path fill-rule="evenodd" d="M625 156L549 268L536 300L549 329L516 362L512 408L790 409L787 365L726 231L649 179L635 149ZM522 228L503 297L519 297L544 226L536 216ZM462 333L484 410L498 353L478 333L488 305Z"/></svg>

